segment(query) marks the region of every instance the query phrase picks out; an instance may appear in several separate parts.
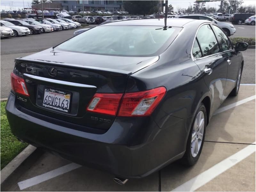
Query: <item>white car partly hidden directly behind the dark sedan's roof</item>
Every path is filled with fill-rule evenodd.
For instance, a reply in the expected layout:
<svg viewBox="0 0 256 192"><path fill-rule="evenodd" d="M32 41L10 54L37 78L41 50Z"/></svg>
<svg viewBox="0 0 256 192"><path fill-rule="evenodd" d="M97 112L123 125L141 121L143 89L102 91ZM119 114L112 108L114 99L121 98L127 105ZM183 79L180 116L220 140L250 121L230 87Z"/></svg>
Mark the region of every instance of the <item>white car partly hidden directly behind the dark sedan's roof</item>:
<svg viewBox="0 0 256 192"><path fill-rule="evenodd" d="M231 35L234 35L234 33L236 33L236 28L231 23L220 22L220 21L212 19L211 17L208 17L206 15L187 14L187 15L177 15L175 17L183 18L183 19L209 20L209 21L212 21L212 22L216 23L217 25L219 25L223 29L223 31L225 32L225 34L227 36L231 36Z"/></svg>

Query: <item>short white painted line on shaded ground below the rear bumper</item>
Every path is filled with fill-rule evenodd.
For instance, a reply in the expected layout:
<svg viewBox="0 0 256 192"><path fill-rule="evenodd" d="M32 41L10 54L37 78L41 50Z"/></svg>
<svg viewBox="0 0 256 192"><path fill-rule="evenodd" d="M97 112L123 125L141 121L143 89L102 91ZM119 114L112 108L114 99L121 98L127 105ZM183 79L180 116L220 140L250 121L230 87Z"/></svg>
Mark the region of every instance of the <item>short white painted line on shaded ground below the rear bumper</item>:
<svg viewBox="0 0 256 192"><path fill-rule="evenodd" d="M52 171L46 172L44 174L38 175L36 177L32 177L30 179L24 180L24 181L20 181L18 183L20 190L37 185L39 183L42 183L46 180L52 179L54 177L57 177L59 175L62 175L63 173L72 171L74 169L77 169L81 167L81 165L75 164L75 163L71 163L71 164L67 164L65 166L62 166L58 169L54 169Z"/></svg>

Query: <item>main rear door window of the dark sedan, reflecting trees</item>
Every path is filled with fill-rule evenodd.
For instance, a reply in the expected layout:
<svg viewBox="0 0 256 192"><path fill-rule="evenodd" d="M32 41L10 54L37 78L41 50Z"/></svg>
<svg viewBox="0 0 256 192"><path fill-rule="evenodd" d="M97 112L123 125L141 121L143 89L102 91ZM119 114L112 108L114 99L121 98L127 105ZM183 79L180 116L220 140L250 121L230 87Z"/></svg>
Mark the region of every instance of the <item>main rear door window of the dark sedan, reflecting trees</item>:
<svg viewBox="0 0 256 192"><path fill-rule="evenodd" d="M220 52L219 44L210 25L203 25L198 30L196 38L202 49L203 56Z"/></svg>

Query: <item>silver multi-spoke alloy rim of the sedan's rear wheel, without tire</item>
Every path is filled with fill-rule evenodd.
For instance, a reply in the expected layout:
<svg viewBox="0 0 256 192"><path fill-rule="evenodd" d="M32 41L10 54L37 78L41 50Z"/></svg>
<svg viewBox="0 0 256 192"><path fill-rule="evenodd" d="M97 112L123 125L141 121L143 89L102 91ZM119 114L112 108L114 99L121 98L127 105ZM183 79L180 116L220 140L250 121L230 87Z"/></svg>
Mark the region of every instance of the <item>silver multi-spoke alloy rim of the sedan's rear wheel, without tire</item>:
<svg viewBox="0 0 256 192"><path fill-rule="evenodd" d="M191 137L191 155L195 158L200 151L204 136L204 112L199 111L196 115Z"/></svg>

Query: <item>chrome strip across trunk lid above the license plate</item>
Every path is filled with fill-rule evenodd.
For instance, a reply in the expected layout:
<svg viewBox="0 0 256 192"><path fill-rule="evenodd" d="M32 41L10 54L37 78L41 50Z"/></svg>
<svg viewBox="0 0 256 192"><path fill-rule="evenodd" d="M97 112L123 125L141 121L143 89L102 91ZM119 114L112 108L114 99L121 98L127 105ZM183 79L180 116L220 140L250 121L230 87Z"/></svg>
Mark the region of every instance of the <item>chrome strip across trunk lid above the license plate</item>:
<svg viewBox="0 0 256 192"><path fill-rule="evenodd" d="M86 85L86 84L80 84L80 83L73 83L73 82L61 81L61 80L57 80L57 79L49 79L49 78L35 76L35 75L30 75L30 74L26 74L26 73L24 73L23 76L31 78L31 79L39 80L39 81L45 81L45 82L49 82L49 83L68 85L68 86L73 86L73 87L97 88L94 85Z"/></svg>

